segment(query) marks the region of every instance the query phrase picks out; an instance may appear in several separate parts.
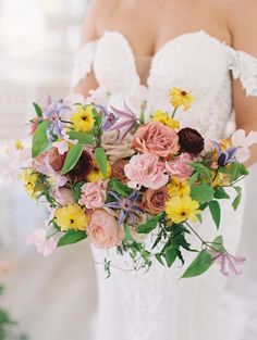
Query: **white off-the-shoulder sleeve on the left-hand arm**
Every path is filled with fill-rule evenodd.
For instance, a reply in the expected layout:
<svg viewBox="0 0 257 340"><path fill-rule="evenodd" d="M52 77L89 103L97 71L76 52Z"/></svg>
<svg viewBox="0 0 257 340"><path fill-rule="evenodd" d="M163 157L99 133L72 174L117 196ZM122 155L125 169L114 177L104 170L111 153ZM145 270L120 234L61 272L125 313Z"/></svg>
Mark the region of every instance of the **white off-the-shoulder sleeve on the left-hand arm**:
<svg viewBox="0 0 257 340"><path fill-rule="evenodd" d="M84 46L76 52L74 67L71 78L71 87L74 88L82 79L86 78L86 76L91 72L96 48L98 40L93 40Z"/></svg>

